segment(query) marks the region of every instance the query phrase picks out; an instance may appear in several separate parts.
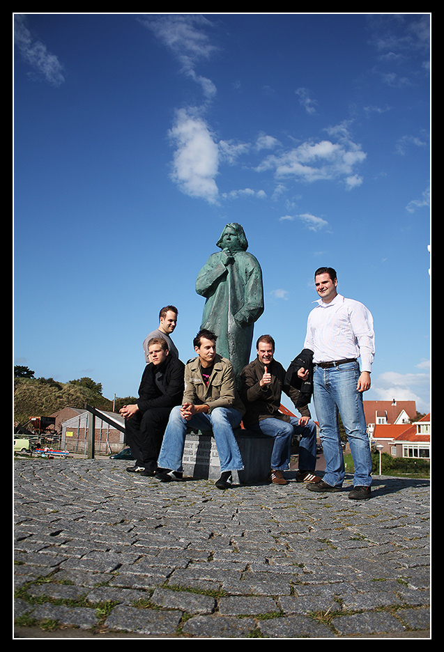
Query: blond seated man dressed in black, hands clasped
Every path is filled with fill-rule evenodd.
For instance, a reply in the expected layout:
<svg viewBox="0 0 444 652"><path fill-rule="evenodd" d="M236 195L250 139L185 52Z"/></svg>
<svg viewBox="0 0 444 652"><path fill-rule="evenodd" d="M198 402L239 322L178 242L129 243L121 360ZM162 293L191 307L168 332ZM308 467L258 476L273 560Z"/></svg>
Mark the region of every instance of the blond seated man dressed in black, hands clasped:
<svg viewBox="0 0 444 652"><path fill-rule="evenodd" d="M153 476L162 445L164 430L174 405L181 405L185 365L168 350L166 340L155 337L148 343L151 364L141 377L139 400L123 405L125 434L135 466L129 472Z"/></svg>

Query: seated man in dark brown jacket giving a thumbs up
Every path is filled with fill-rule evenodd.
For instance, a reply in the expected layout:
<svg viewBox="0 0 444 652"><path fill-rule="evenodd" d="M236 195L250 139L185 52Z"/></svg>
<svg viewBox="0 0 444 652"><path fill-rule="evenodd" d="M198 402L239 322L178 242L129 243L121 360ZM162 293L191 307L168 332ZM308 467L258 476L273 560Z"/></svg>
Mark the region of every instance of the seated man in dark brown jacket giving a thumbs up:
<svg viewBox="0 0 444 652"><path fill-rule="evenodd" d="M271 454L270 479L278 485L286 485L282 471L290 465L291 441L300 435L298 482L315 482L319 478L313 473L316 467L316 424L311 420L307 405L298 408L300 419L280 412L281 396L284 391L295 407L299 391L284 383L285 370L274 358L275 341L270 335L259 337L257 358L247 364L240 374L240 396L245 404L245 428L256 430L266 437L274 437Z"/></svg>

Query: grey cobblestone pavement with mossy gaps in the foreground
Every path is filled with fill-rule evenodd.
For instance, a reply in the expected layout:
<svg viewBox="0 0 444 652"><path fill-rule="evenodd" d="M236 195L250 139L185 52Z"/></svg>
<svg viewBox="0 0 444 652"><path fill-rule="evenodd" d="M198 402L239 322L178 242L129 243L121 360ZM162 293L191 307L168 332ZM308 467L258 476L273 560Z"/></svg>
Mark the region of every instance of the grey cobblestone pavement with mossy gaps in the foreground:
<svg viewBox="0 0 444 652"><path fill-rule="evenodd" d="M353 501L127 466L15 460L15 638L430 637L428 480Z"/></svg>

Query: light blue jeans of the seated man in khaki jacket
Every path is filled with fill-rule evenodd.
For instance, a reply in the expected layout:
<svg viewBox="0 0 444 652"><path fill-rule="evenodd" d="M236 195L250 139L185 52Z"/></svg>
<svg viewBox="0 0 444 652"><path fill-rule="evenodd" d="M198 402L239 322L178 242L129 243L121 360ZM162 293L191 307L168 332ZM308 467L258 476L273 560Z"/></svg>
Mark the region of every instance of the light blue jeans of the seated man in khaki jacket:
<svg viewBox="0 0 444 652"><path fill-rule="evenodd" d="M158 458L160 469L182 471L183 449L187 428L213 430L220 470L242 471L243 461L233 428L238 428L242 414L233 408L214 408L210 414L194 414L190 421L183 419L180 406L171 410L167 429L163 437L162 448Z"/></svg>

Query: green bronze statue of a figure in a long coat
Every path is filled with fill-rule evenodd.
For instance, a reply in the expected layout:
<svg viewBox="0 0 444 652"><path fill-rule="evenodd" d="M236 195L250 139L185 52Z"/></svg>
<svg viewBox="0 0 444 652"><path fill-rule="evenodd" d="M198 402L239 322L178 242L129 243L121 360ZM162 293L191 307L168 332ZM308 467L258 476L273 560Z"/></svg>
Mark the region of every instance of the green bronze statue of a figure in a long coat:
<svg viewBox="0 0 444 652"><path fill-rule="evenodd" d="M196 280L196 292L206 298L201 328L217 335L217 353L228 358L236 380L250 362L254 322L263 313L262 271L247 253L248 242L233 222L222 231L217 247Z"/></svg>

